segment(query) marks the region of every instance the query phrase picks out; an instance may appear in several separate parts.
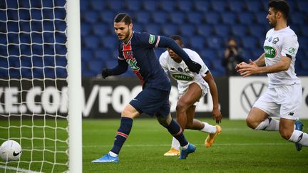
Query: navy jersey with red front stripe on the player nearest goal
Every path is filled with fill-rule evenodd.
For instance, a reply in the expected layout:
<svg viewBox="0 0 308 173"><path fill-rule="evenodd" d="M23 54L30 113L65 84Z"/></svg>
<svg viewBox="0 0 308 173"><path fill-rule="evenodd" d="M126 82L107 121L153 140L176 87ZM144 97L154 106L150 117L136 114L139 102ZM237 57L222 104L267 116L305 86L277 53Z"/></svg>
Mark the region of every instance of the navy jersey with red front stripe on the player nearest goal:
<svg viewBox="0 0 308 173"><path fill-rule="evenodd" d="M170 79L160 66L154 48L158 47L160 36L133 32L128 43L119 41L119 61L126 61L143 87L170 91Z"/></svg>

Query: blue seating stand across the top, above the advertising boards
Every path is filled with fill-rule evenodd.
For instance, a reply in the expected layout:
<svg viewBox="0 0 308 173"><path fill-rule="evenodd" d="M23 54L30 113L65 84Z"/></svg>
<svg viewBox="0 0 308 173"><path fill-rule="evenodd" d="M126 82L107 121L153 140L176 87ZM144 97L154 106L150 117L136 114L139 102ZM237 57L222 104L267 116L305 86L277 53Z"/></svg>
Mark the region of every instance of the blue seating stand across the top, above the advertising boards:
<svg viewBox="0 0 308 173"><path fill-rule="evenodd" d="M9 1L14 6L16 2ZM24 3L21 1L21 3ZM46 1L49 3L49 1ZM270 28L265 19L267 16L267 0L81 0L81 45L82 45L82 74L83 77L95 77L101 73L102 68L113 68L116 65L117 38L114 34L113 19L119 12L126 12L133 17L134 31L148 32L155 35L170 36L179 34L183 36L185 47L192 48L200 53L207 66L213 71L213 75L225 75L225 71L221 64L222 52L225 48L227 38L234 36L239 46L243 48L242 56L245 60L249 58L257 58L262 53L262 44L264 42L265 33ZM308 75L308 1L292 0L288 1L291 14L289 17L289 26L297 33L299 38L299 51L297 54L297 72L299 75ZM41 3L31 4L32 6L40 6ZM7 10L8 15L11 11ZM19 27L23 31L30 31L31 28L43 28L44 31L52 30L56 27L63 30L66 23L61 21L43 21L36 22L29 20L29 11L20 9L20 17L25 21L16 22L9 21L7 23L10 33L8 35L10 43L19 43L32 39L36 43L41 43L35 33L22 33L16 36L14 32L19 32ZM44 11L44 14L53 15L52 11ZM13 14L12 14L13 15ZM58 16L65 15L63 12L57 13ZM0 20L6 20L4 11L0 11ZM41 11L31 11L31 17L41 19ZM45 17L45 16L44 16ZM11 16L11 18L19 20L19 16ZM55 24L55 25L54 25ZM6 29L5 23L0 23L0 31ZM44 34L44 41L53 41L53 34ZM63 42L62 36L57 36L56 41ZM0 34L0 43L6 44L6 36ZM21 51L25 55L29 55L29 46L21 46ZM63 51L60 48L60 52ZM42 48L33 45L32 50L38 55L42 55ZM157 55L165 51L158 49ZM18 46L10 46L10 55L17 55ZM6 49L0 46L0 53L7 56ZM45 52L45 54L48 52ZM57 57L58 58L58 57ZM9 58L14 61L14 58ZM41 66L42 59L36 58L34 62L37 66ZM63 63L63 61L56 61ZM0 58L0 65L5 66L6 61ZM27 62L23 61L27 64ZM29 62L28 62L29 63ZM48 63L48 61L46 61ZM18 64L15 64L18 65ZM93 65L93 66L92 66ZM93 67L97 69L93 69ZM91 68L90 68L91 67ZM130 70L128 70L130 71ZM6 75L6 70L0 69L0 75ZM24 70L26 72L26 69ZM22 73L23 75L26 75ZM42 70L34 69L34 75L42 75ZM49 73L46 70L46 73ZM19 71L11 70L12 75L20 75ZM50 73L52 75L52 73ZM53 73L54 75L54 73ZM61 70L57 69L56 75L61 75ZM131 72L123 74L124 76L134 75Z"/></svg>

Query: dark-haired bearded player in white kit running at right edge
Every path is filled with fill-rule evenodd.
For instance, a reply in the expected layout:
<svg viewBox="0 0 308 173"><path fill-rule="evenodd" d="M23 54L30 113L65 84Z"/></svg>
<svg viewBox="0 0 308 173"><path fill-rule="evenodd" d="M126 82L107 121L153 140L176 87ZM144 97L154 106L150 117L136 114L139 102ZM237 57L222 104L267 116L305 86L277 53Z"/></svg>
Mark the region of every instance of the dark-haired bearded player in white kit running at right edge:
<svg viewBox="0 0 308 173"><path fill-rule="evenodd" d="M235 67L243 77L267 73L269 87L256 101L247 116L247 126L254 130L279 131L280 135L294 142L298 151L308 146L308 135L302 132L298 120L302 104L302 86L294 70L299 43L297 35L287 26L289 6L286 1L270 1L267 21L273 28L267 31L265 53L247 64ZM272 116L279 116L275 120ZM295 129L294 129L295 127Z"/></svg>

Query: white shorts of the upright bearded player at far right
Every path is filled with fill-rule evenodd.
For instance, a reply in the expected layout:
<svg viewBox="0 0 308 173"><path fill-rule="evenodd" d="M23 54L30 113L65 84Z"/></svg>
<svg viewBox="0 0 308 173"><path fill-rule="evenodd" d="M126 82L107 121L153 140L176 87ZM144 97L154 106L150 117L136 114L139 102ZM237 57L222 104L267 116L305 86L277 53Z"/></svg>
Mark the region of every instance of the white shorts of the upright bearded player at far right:
<svg viewBox="0 0 308 173"><path fill-rule="evenodd" d="M253 107L265 111L270 116L297 120L302 105L302 85L284 85L268 88Z"/></svg>

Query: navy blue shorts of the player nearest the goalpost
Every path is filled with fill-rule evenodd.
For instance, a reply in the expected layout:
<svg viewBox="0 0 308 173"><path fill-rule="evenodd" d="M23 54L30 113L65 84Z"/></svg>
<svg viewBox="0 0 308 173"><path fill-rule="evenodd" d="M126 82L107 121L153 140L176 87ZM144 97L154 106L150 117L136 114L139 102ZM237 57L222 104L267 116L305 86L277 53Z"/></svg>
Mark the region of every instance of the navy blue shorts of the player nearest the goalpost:
<svg viewBox="0 0 308 173"><path fill-rule="evenodd" d="M145 113L153 117L167 117L170 113L169 104L170 91L158 90L155 88L144 88L133 100L130 105L138 112Z"/></svg>

